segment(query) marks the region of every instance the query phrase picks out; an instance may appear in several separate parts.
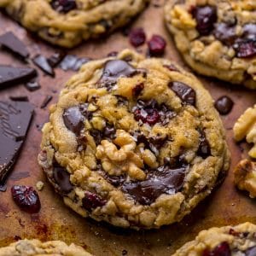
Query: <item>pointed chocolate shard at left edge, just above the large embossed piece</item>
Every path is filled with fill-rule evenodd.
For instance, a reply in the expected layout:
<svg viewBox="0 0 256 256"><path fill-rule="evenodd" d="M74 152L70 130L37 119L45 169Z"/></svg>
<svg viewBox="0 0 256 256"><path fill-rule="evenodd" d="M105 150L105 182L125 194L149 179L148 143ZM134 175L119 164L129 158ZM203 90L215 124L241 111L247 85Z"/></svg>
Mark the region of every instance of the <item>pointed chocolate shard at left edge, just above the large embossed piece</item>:
<svg viewBox="0 0 256 256"><path fill-rule="evenodd" d="M26 83L37 76L31 67L11 67L0 65L0 88Z"/></svg>

